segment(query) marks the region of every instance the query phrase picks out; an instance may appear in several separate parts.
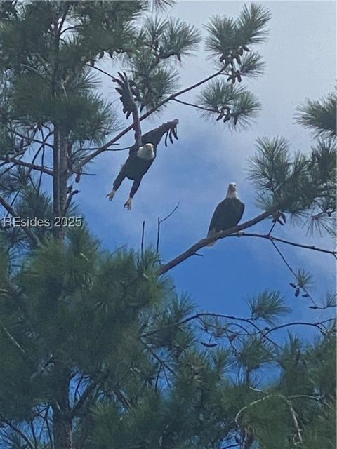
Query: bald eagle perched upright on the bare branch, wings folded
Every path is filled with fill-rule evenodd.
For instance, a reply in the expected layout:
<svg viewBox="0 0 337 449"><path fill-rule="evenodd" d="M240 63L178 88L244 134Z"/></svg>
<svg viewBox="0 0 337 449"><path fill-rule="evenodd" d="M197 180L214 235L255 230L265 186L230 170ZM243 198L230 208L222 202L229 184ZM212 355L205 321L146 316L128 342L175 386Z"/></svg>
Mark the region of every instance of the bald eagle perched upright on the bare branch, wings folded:
<svg viewBox="0 0 337 449"><path fill-rule="evenodd" d="M244 203L237 197L237 185L235 182L231 182L228 186L226 198L216 206L207 237L237 226L243 214ZM213 241L207 246L214 246L215 244L216 241Z"/></svg>

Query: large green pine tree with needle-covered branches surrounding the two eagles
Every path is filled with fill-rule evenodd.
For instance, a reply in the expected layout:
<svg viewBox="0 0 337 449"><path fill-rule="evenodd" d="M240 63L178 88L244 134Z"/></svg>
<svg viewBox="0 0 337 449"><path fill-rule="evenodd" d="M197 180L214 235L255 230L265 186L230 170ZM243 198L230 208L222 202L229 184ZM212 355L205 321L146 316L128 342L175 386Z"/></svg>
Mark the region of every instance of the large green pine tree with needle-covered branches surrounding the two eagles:
<svg viewBox="0 0 337 449"><path fill-rule="evenodd" d="M196 87L177 91L174 67L197 48L197 29L147 15L171 4L1 1L0 203L10 215L51 222L1 229L1 448L336 445L333 319L309 323L319 337L302 341L282 321L282 293L270 290L249 299L244 317L197 311L166 272L207 239L162 264L149 249L103 250L85 225L53 227L55 217L72 215L74 183L87 164L132 128L115 135L120 114L98 94L100 60L110 59L114 72L128 69L140 120ZM265 41L269 19L251 4L237 19L210 20L206 48L216 72L188 106L230 129L251 123L260 103L240 83L263 71L253 48ZM272 217L276 226L290 216L311 232L333 232L333 114L334 94L300 108L298 123L315 131L310 156L293 158L281 137L258 140L258 220ZM295 275L294 295L310 299L309 274ZM331 293L310 307L335 303ZM289 337L280 344L272 336L281 327Z"/></svg>

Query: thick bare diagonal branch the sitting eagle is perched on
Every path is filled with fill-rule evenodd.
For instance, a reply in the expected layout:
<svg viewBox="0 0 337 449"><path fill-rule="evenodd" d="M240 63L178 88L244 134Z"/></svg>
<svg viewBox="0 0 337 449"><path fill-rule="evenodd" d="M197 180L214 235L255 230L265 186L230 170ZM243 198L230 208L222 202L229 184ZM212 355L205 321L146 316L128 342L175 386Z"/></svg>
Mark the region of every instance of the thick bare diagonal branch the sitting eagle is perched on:
<svg viewBox="0 0 337 449"><path fill-rule="evenodd" d="M247 222L242 223L242 225L237 225L234 227L231 227L230 229L227 229L226 231L217 232L211 237L207 237L206 239L201 239L197 243L194 243L190 248L188 248L184 253L181 253L177 257L174 257L174 259L170 260L166 264L161 265L158 272L159 274L164 274L166 272L169 272L170 269L176 267L181 262L184 262L184 260L188 259L192 255L195 255L197 251L201 248L204 248L205 246L208 246L210 243L213 243L213 241L224 239L227 236L230 236L231 234L235 234L242 229L246 229L248 227L251 227L253 225L256 225L259 222L262 222L265 220L265 218L272 215L272 210L269 210L267 212L261 213L257 217L253 218L252 220L249 220Z"/></svg>

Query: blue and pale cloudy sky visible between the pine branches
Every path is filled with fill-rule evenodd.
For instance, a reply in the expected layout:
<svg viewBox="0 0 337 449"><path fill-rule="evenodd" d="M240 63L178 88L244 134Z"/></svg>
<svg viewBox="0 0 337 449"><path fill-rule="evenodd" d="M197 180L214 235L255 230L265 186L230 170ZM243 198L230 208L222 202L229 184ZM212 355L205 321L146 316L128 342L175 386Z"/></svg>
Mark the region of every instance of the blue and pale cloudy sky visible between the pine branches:
<svg viewBox="0 0 337 449"><path fill-rule="evenodd" d="M241 1L178 1L169 15L186 20L202 30L211 15L233 15ZM247 180L247 160L254 154L256 138L282 135L291 142L293 152L310 151L310 133L294 124L296 107L306 97L317 99L333 89L336 79L336 4L332 1L263 2L272 12L270 38L256 47L266 62L265 74L246 82L262 102L262 112L249 130L230 133L222 122L206 121L194 109L174 103L161 116L143 121L143 132L164 121L178 118L179 140L174 145L159 145L157 159L143 178L133 204L127 211L131 181L124 181L114 200L106 199L126 152L102 154L91 165L95 177L82 177L81 193L76 199L95 236L104 248L127 244L139 248L143 220L145 243L154 245L157 217L164 217L180 204L161 229L161 255L164 260L183 252L205 236L217 203L226 194L229 182L236 182L239 197L246 204L244 221L257 215L254 189ZM203 31L204 33L204 31ZM110 62L104 68L114 74ZM196 55L180 67L180 86L190 86L213 73L202 44ZM110 79L102 78L107 98L116 98ZM195 100L197 91L181 96ZM116 103L118 105L118 103ZM128 124L128 123L127 123ZM133 144L129 133L121 146ZM253 227L253 232L268 230L270 223ZM305 229L287 224L277 227L275 236L300 243L315 243L331 248L330 237L311 238ZM332 256L301 248L279 246L294 269L306 268L314 276L310 293L319 300L335 286ZM294 319L316 321L322 314L308 309L306 298L295 298L289 282L293 276L270 242L262 239L224 239L212 249L203 249L204 257L192 257L172 270L178 290L187 291L198 309L245 316L246 297L265 288L281 290L293 308ZM289 317L290 321L290 317Z"/></svg>

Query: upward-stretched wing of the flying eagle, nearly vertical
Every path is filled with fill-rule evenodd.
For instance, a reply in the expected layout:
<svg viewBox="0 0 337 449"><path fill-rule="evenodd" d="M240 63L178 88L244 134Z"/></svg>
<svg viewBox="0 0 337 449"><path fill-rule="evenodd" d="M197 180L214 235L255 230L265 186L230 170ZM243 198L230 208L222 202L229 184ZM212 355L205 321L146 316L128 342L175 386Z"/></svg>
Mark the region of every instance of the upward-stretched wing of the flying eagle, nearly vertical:
<svg viewBox="0 0 337 449"><path fill-rule="evenodd" d="M136 102L133 99L133 94L130 88L130 81L125 72L118 72L119 78L114 78L113 81L118 84L116 91L121 95L121 102L123 103L123 112L126 114L126 119L132 114L133 129L135 130L135 141L137 149L142 145L142 130L140 129L140 121Z"/></svg>

